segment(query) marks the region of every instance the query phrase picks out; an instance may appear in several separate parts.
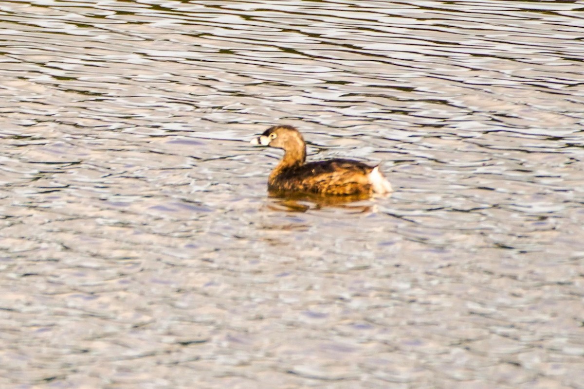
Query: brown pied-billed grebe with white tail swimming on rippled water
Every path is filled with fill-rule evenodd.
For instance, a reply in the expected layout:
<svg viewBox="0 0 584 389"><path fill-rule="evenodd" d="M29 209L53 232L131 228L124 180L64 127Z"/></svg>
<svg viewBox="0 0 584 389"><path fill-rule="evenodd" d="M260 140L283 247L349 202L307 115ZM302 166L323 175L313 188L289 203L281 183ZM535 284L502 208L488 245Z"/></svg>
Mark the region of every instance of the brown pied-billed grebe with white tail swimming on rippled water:
<svg viewBox="0 0 584 389"><path fill-rule="evenodd" d="M267 180L270 192L350 196L392 191L379 166L350 159L305 163L306 143L300 132L290 125L270 127L251 143L284 149L284 157Z"/></svg>

